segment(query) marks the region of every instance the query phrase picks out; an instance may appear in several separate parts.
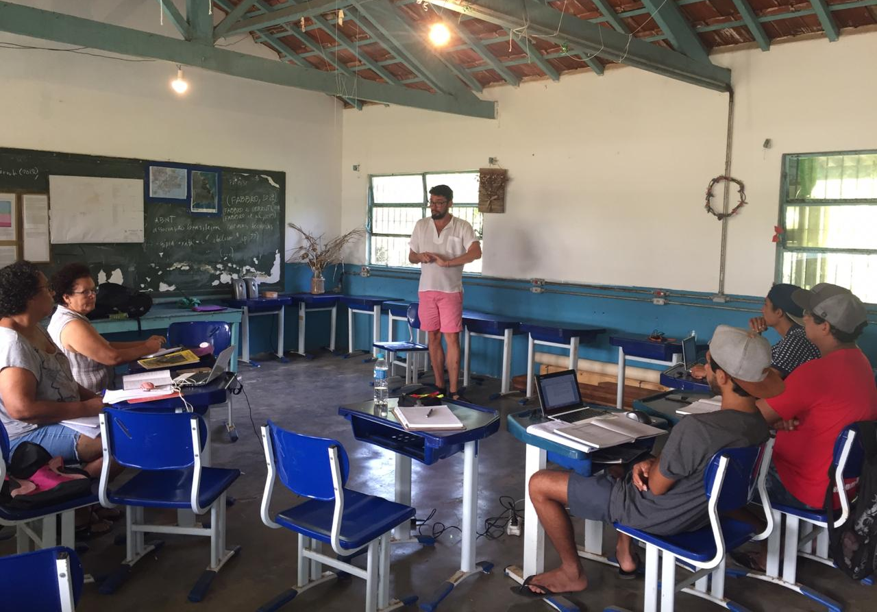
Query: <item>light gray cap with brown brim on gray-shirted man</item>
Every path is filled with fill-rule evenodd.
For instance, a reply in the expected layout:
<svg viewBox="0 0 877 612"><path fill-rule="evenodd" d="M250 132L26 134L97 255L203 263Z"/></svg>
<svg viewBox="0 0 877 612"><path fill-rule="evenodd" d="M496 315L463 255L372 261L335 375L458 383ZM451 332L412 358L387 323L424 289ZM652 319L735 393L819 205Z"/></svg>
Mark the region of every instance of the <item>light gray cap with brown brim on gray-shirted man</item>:
<svg viewBox="0 0 877 612"><path fill-rule="evenodd" d="M719 325L709 340L709 357L753 397L774 397L785 388L771 369L770 343L749 331Z"/></svg>

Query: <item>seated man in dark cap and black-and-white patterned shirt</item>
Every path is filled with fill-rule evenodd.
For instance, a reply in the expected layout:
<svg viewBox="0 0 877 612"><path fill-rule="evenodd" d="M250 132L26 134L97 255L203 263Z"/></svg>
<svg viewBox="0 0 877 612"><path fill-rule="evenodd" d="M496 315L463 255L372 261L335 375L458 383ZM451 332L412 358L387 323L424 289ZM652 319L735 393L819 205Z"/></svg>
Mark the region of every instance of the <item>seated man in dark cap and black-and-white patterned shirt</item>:
<svg viewBox="0 0 877 612"><path fill-rule="evenodd" d="M771 367L783 378L802 363L819 359L819 349L807 339L802 327L803 309L792 300L792 294L798 289L797 285L787 282L774 285L761 306L761 317L749 319L749 327L755 333L760 334L772 327L780 334L780 341L771 349ZM704 367L694 366L691 375L704 378Z"/></svg>

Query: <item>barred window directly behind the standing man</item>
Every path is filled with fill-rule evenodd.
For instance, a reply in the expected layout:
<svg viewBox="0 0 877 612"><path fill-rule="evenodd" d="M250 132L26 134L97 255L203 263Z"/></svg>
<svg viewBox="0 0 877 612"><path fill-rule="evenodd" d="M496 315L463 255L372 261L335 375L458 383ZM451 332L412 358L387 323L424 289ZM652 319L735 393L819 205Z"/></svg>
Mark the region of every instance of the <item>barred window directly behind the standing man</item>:
<svg viewBox="0 0 877 612"><path fill-rule="evenodd" d="M414 224L430 214L429 192L436 185L453 189L451 214L472 224L484 248L477 172L373 174L368 185L369 265L418 267L408 261L408 242ZM474 260L463 269L480 274L481 260Z"/></svg>

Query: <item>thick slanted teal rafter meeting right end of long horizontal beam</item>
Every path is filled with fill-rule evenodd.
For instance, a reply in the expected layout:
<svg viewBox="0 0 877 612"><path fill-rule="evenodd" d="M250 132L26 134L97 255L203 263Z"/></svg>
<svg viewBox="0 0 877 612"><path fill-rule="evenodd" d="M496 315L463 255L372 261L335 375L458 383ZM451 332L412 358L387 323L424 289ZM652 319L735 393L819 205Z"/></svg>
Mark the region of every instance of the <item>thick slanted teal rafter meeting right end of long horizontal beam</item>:
<svg viewBox="0 0 877 612"><path fill-rule="evenodd" d="M374 24L374 27L381 34L403 50L405 57L410 59L415 73L431 75L438 85L438 91L458 96L461 100L478 99L471 90L460 82L457 75L454 75L447 68L439 56L424 46L422 39L414 32L411 25L399 15L396 7L389 0L362 3L359 5L358 11L360 15Z"/></svg>

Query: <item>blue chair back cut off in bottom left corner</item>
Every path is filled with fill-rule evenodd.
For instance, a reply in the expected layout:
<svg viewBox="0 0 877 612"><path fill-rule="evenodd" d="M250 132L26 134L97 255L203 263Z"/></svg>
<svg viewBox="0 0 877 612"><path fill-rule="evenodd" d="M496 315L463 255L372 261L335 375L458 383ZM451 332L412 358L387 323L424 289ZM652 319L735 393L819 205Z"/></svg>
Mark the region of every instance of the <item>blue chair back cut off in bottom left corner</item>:
<svg viewBox="0 0 877 612"><path fill-rule="evenodd" d="M79 557L64 546L0 557L0 609L73 612L83 580Z"/></svg>

